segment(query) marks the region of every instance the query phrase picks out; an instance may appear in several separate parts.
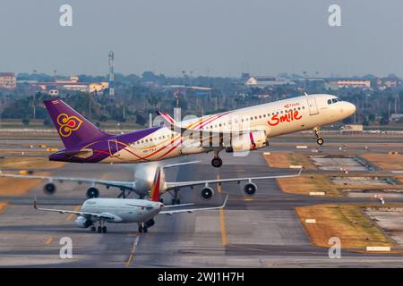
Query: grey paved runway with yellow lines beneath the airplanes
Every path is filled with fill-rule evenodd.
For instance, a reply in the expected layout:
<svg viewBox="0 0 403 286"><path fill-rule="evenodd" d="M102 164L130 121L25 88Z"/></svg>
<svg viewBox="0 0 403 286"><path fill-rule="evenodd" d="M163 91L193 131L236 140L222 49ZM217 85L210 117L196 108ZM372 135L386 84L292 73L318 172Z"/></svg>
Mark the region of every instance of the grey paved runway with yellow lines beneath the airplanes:
<svg viewBox="0 0 403 286"><path fill-rule="evenodd" d="M291 147L290 147L291 148ZM295 147L294 147L295 148ZM258 150L247 157L222 154L219 170L210 166L211 155L189 156L201 160L167 171L167 181L192 181L296 172L270 169ZM133 179L124 165L66 164L54 175L98 177L104 180ZM317 198L286 194L274 180L258 181L258 193L245 198L236 183L212 186L215 197L206 203L200 188L182 189L182 202L198 206L219 205L230 194L224 210L193 214L159 215L148 233L135 224L108 224L108 233L76 228L74 216L49 214L33 209L32 199L47 207L75 209L85 200L86 185L57 184L54 196L42 185L24 197L3 197L9 205L0 212L0 266L23 267L401 267L401 254L366 254L342 248L340 259L330 259L328 248L314 247L296 215L296 206L318 203L377 203L373 198ZM117 189L99 188L102 197L114 198ZM166 201L170 195L164 195ZM390 199L403 203L403 199ZM59 241L73 242L73 258L62 259Z"/></svg>

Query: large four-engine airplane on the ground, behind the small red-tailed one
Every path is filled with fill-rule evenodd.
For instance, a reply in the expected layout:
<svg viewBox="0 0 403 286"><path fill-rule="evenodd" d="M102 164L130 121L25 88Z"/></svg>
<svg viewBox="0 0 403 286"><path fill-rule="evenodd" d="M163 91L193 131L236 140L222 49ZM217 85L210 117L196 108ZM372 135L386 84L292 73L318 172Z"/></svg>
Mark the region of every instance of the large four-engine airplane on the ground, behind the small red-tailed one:
<svg viewBox="0 0 403 286"><path fill-rule="evenodd" d="M217 180L201 180L201 181L166 181L165 180L165 172L164 169L170 167L181 166L185 164L195 164L199 161L193 162L184 162L177 164L167 164L165 166L157 166L155 169L146 169L142 170L142 176L149 177L147 172L154 172L155 174L159 174L160 177L160 188L159 191L161 194L165 192L173 191L173 199L172 204L180 204L180 199L178 198L179 189L185 187L191 187L193 189L194 186L203 186L201 188L200 196L204 200L209 200L214 196L214 189L210 187L210 184L215 183L225 183L225 182L237 182L240 184L241 181L246 181L244 188L242 189L245 196L252 197L258 187L253 181L258 180L268 180L268 179L279 179L279 178L293 178L300 176L302 169L295 174L288 175L276 175L276 176L262 176L262 177L245 177L245 178L228 178L228 179L217 179ZM144 198L149 195L150 189L152 189L153 181L148 181L147 177L138 176L135 181L107 181L107 180L99 180L99 179L88 179L88 178L71 178L71 177L47 177L47 176L37 176L37 175L21 175L21 174L13 174L13 173L4 173L0 171L0 177L8 177L8 178L21 178L21 179L39 179L39 180L47 180L49 181L44 186L44 191L47 194L54 194L56 192L56 185L54 181L74 181L74 182L85 182L90 183L91 186L87 189L86 196L87 198L99 198L99 189L95 188L95 185L103 185L109 187L115 187L121 190L118 198L126 198L131 192L136 193L140 196L140 198ZM171 193L172 194L172 193Z"/></svg>

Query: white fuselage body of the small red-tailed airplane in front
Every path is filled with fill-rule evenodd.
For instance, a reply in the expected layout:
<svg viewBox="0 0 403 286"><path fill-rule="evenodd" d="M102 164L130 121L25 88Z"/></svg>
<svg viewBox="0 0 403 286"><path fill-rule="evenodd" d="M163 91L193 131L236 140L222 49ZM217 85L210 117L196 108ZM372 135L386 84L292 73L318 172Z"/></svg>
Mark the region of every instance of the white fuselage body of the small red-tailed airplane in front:
<svg viewBox="0 0 403 286"><path fill-rule="evenodd" d="M143 223L159 214L163 206L145 199L90 198L81 206L81 212L114 216L107 223Z"/></svg>

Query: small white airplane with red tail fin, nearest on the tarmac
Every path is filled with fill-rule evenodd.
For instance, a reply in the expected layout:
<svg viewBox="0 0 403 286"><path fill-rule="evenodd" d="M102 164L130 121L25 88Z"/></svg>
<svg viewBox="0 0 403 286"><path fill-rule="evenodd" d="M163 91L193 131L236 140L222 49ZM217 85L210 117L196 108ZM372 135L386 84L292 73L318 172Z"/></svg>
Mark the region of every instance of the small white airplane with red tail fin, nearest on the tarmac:
<svg viewBox="0 0 403 286"><path fill-rule="evenodd" d="M77 219L75 220L75 225L78 227L91 227L91 231L105 233L107 232L105 223L138 223L139 232L147 232L148 229L155 224L154 217L158 214L193 213L195 211L223 208L227 204L228 195L221 206L171 210L172 207L190 206L194 204L165 206L159 201L159 193L162 186L161 172L156 172L150 193L150 200L132 198L90 198L84 202L80 211L70 211L38 207L37 200L35 199L34 207L40 211L76 214ZM164 210L166 208L167 210ZM99 224L98 228L95 226L96 223Z"/></svg>

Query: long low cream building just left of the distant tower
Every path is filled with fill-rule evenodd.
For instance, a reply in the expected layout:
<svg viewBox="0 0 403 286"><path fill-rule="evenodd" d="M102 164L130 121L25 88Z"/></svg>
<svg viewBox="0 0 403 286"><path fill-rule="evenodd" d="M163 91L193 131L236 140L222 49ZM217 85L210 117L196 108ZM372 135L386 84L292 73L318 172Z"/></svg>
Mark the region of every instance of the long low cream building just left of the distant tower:
<svg viewBox="0 0 403 286"><path fill-rule="evenodd" d="M56 80L55 82L37 82L33 85L45 92L49 90L73 90L81 92L99 92L108 88L108 83L105 82L80 82L79 77L73 76L70 80ZM50 93L49 93L50 94Z"/></svg>

